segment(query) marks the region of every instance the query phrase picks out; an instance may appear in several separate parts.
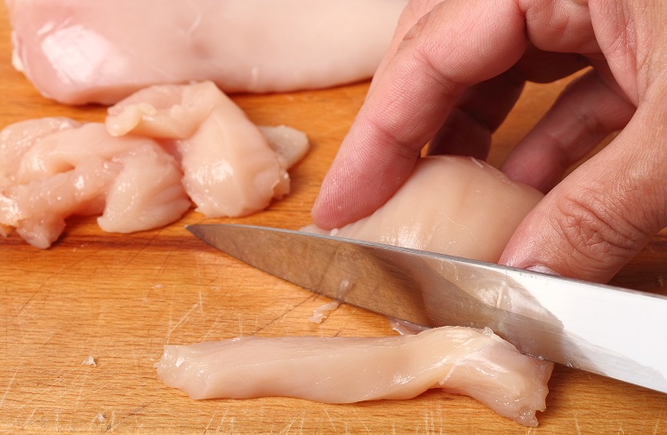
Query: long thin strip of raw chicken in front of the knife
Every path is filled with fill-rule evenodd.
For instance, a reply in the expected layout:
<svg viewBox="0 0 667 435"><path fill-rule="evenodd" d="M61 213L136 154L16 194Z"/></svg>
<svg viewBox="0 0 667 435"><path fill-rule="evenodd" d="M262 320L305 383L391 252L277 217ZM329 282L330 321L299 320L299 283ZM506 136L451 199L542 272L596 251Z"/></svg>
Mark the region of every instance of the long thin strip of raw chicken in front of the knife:
<svg viewBox="0 0 667 435"><path fill-rule="evenodd" d="M245 336L166 345L157 375L193 399L289 396L350 403L410 399L442 388L536 426L552 368L490 329L443 327L414 336Z"/></svg>

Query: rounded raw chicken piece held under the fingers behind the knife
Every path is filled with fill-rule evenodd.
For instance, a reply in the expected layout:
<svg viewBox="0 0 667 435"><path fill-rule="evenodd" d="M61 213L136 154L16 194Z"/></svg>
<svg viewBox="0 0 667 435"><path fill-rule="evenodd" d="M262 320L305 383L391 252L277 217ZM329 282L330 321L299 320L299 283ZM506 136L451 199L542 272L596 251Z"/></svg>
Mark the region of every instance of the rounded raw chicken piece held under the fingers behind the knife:
<svg viewBox="0 0 667 435"><path fill-rule="evenodd" d="M372 215L331 232L303 230L495 263L542 196L486 162L430 156Z"/></svg>

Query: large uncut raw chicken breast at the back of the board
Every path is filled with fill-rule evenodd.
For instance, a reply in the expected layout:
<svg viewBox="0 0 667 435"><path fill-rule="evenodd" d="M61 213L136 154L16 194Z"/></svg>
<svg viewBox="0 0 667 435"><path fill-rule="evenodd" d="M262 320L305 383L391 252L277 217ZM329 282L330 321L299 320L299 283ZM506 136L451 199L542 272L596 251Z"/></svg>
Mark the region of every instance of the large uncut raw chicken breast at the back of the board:
<svg viewBox="0 0 667 435"><path fill-rule="evenodd" d="M406 0L12 0L13 63L45 97L115 103L152 84L294 91L374 74Z"/></svg>

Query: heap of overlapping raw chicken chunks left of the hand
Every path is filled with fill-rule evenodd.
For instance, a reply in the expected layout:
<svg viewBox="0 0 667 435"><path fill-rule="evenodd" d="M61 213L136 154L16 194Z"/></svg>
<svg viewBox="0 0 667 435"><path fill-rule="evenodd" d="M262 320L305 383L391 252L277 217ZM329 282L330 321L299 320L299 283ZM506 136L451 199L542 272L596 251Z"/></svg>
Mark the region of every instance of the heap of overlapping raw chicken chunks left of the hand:
<svg viewBox="0 0 667 435"><path fill-rule="evenodd" d="M154 86L108 112L105 124L44 118L0 132L0 235L16 228L48 248L70 215L148 230L190 199L207 217L247 215L289 192L287 170L309 148L301 131L260 130L211 82Z"/></svg>

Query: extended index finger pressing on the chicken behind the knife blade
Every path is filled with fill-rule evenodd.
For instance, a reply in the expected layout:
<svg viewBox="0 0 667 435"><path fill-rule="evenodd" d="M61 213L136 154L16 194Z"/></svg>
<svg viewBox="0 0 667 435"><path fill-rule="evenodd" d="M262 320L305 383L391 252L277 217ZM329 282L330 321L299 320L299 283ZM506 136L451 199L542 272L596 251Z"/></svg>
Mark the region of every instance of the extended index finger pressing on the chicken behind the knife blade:
<svg viewBox="0 0 667 435"><path fill-rule="evenodd" d="M526 44L515 2L448 1L424 15L376 76L325 177L315 223L344 225L386 202L462 91L509 69Z"/></svg>

